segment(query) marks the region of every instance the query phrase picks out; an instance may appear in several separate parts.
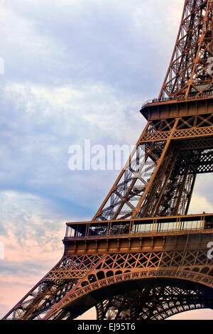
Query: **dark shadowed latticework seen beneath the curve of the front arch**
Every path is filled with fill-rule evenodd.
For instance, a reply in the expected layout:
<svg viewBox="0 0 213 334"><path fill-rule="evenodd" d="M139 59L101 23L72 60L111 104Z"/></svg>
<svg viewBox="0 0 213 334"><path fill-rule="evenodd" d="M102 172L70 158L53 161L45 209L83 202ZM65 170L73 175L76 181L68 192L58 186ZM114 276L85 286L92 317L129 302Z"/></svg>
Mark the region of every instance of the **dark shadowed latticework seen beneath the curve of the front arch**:
<svg viewBox="0 0 213 334"><path fill-rule="evenodd" d="M146 287L98 303L98 320L164 320L175 314L213 308L211 298L199 289L178 286Z"/></svg>

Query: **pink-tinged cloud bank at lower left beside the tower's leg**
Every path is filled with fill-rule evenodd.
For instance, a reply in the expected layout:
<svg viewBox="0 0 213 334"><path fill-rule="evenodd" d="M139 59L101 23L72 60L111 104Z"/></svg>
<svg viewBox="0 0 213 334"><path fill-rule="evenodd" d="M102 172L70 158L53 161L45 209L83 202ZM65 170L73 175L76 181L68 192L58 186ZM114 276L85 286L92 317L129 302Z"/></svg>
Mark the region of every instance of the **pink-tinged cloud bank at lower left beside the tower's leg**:
<svg viewBox="0 0 213 334"><path fill-rule="evenodd" d="M4 244L4 258L0 259L0 313L3 316L62 257L65 223L48 200L30 193L1 191L0 201L0 242Z"/></svg>

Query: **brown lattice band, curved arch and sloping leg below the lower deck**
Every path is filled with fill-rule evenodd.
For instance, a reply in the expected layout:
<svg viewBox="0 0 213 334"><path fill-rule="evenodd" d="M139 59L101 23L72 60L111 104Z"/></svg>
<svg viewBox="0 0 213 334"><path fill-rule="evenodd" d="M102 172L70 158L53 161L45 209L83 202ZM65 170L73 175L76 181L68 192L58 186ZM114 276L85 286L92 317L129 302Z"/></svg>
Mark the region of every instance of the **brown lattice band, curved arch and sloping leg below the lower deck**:
<svg viewBox="0 0 213 334"><path fill-rule="evenodd" d="M75 318L79 314L70 311L70 305L92 291L157 277L196 281L210 287L212 262L205 249L65 256L4 318ZM98 302L94 305L99 307Z"/></svg>

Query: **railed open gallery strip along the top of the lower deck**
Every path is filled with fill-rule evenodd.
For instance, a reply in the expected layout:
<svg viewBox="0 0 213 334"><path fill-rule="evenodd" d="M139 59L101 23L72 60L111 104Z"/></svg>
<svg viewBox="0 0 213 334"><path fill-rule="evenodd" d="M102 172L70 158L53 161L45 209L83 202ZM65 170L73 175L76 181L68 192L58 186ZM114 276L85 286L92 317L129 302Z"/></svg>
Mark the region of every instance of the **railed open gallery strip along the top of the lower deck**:
<svg viewBox="0 0 213 334"><path fill-rule="evenodd" d="M173 217L136 218L132 220L104 220L67 222L65 240L162 235L213 229L213 213Z"/></svg>

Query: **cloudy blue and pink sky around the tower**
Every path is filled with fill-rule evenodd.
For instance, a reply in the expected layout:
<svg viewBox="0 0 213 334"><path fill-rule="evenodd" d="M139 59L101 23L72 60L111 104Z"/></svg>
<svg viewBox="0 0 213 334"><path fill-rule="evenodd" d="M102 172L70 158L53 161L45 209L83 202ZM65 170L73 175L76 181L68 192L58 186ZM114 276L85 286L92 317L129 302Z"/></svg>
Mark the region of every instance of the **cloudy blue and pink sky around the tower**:
<svg viewBox="0 0 213 334"><path fill-rule="evenodd" d="M0 316L62 257L65 222L91 220L109 192L119 172L70 171L69 148L136 143L183 4L0 0ZM191 212L213 212L211 184L198 178Z"/></svg>

